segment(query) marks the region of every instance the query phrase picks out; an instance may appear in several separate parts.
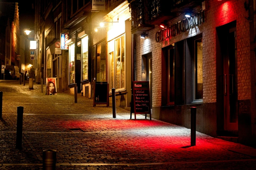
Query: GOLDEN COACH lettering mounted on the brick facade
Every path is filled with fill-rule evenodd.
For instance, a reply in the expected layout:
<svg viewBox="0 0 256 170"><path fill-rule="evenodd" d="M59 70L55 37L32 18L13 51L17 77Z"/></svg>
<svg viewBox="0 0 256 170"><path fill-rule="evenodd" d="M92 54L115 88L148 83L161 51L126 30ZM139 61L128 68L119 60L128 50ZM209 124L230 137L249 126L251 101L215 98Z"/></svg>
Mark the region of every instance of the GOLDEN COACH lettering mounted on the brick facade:
<svg viewBox="0 0 256 170"><path fill-rule="evenodd" d="M185 18L177 23L174 23L155 33L156 42L175 37L177 34L185 32L199 24L204 23L204 11L191 15L190 18Z"/></svg>

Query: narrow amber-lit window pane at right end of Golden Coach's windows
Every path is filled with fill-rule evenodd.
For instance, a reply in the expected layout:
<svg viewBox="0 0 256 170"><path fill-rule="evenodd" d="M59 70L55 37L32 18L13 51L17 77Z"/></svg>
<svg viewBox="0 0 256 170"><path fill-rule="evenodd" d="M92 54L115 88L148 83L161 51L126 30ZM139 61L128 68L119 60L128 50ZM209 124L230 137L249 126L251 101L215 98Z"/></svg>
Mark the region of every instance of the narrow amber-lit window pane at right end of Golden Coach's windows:
<svg viewBox="0 0 256 170"><path fill-rule="evenodd" d="M196 39L195 44L195 72L194 72L194 101L203 99L203 42Z"/></svg>

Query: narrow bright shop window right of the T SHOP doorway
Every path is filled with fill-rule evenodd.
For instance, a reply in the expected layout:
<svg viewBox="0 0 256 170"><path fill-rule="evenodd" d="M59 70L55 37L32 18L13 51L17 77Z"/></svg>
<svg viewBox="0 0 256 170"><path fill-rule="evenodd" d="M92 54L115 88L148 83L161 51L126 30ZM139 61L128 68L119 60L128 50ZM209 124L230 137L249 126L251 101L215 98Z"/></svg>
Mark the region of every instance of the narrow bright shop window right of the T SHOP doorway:
<svg viewBox="0 0 256 170"><path fill-rule="evenodd" d="M82 80L88 79L88 36L82 39Z"/></svg>

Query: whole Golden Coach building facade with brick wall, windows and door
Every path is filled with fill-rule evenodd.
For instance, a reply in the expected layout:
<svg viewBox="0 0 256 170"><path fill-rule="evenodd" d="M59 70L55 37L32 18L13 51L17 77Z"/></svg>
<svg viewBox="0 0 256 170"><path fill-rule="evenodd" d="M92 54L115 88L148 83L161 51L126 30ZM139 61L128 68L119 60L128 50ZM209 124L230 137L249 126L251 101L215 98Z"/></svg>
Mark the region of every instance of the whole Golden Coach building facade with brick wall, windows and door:
<svg viewBox="0 0 256 170"><path fill-rule="evenodd" d="M255 56L244 2L156 1L131 2L135 80L150 82L152 117L190 128L197 107L197 131L255 144ZM143 3L147 22L133 12Z"/></svg>

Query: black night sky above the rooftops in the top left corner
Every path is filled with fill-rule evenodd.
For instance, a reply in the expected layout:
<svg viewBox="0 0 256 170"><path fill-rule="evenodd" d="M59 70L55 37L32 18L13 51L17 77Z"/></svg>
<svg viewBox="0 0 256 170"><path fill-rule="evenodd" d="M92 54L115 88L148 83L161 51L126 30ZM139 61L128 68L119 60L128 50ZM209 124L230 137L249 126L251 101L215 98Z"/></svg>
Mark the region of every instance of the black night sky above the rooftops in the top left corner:
<svg viewBox="0 0 256 170"><path fill-rule="evenodd" d="M0 0L0 2L18 2L20 29L34 27L34 0Z"/></svg>

